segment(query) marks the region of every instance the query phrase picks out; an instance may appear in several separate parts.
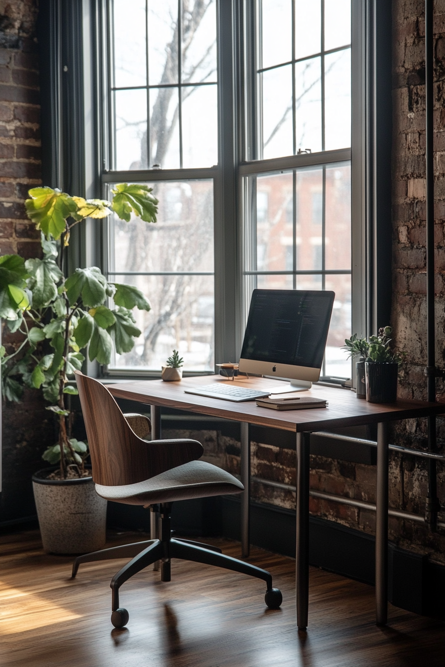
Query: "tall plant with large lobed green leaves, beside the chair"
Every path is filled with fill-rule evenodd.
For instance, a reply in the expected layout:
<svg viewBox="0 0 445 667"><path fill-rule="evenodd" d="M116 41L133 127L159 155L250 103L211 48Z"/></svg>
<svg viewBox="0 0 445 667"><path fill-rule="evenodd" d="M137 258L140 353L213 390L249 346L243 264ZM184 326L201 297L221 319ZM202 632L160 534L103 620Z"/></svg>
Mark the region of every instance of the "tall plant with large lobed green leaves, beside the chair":
<svg viewBox="0 0 445 667"><path fill-rule="evenodd" d="M0 317L22 340L9 354L0 348L3 396L19 401L23 387L43 391L57 416L59 438L43 459L60 462L60 476L69 468L85 474L87 444L71 437L71 414L65 398L77 394L69 384L85 356L109 364L113 349L129 352L140 336L133 308L149 311L150 303L133 285L107 280L98 267L77 268L66 276L64 250L70 231L87 217L105 219L112 211L129 221L131 213L147 223L156 221L157 199L147 185L120 183L113 199L71 197L51 187L29 190L28 217L41 231L42 257L0 257Z"/></svg>

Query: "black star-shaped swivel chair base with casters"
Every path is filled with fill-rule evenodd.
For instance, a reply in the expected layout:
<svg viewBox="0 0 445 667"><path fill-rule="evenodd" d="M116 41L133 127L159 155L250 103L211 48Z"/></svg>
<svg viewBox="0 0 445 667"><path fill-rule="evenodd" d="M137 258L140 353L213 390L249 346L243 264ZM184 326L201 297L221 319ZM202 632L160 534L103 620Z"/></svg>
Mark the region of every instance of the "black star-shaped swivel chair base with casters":
<svg viewBox="0 0 445 667"><path fill-rule="evenodd" d="M248 574L266 582L265 602L270 609L278 609L282 603L282 594L278 588L272 588L272 575L267 570L242 560L225 556L217 547L201 542L171 538L171 503L161 504L159 507L159 540L147 540L124 546L104 549L102 551L85 554L75 559L73 563L73 577L77 574L81 563L112 558L127 558L131 560L113 576L111 580L111 623L115 628L123 628L128 622L128 612L119 607L119 588L137 572L147 568L157 561L161 561L161 581L171 580L171 558L190 560L205 565L214 565L226 570L233 570L241 574Z"/></svg>

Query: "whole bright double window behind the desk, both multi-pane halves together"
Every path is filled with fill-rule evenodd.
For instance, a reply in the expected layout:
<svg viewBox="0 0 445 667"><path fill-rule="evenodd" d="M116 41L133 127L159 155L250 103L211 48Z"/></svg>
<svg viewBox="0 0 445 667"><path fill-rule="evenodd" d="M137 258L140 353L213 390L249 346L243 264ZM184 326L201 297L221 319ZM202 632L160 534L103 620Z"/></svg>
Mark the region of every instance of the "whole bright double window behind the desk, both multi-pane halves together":
<svg viewBox="0 0 445 667"><path fill-rule="evenodd" d="M83 261L152 303L136 313L134 350L106 372L158 374L172 348L185 372L236 360L258 286L336 291L323 374L350 376L338 346L354 312L368 307L366 281L354 286L354 301L351 279L368 252L360 234L351 242L367 215L361 195L354 227L350 205L350 13L362 3L132 0L131 18L124 0L93 4L96 51L84 44L91 79L81 93L91 80L84 115L97 113L101 141L85 156L87 173L104 196L113 183L135 181L159 198L156 225L110 219L102 245L85 236ZM64 39L74 54L76 35ZM67 103L65 115L76 109ZM71 173L80 179L81 169L67 168L61 187L81 191ZM85 194L96 192L92 176Z"/></svg>

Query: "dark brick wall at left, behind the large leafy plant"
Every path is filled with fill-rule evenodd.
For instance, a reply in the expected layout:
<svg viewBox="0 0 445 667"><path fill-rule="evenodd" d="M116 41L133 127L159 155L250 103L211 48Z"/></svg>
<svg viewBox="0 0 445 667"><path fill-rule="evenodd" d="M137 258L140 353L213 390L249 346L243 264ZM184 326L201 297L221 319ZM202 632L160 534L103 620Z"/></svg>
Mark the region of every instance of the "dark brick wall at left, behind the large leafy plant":
<svg viewBox="0 0 445 667"><path fill-rule="evenodd" d="M37 0L0 0L0 253L39 254L34 226L25 215L27 191L41 177L39 71L35 21ZM17 336L3 331L11 349ZM3 405L3 492L0 522L35 513L31 474L53 438L39 392L21 404ZM49 442L51 442L51 440Z"/></svg>

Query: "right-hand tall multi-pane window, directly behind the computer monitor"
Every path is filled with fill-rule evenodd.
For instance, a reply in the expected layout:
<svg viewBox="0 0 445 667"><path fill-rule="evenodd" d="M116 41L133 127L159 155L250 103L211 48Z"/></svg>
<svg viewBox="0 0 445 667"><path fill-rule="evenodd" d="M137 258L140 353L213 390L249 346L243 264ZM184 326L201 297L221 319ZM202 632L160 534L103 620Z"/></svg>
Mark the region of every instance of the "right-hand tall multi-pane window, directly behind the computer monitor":
<svg viewBox="0 0 445 667"><path fill-rule="evenodd" d="M245 7L244 305L255 287L334 290L322 375L349 377L351 2Z"/></svg>

